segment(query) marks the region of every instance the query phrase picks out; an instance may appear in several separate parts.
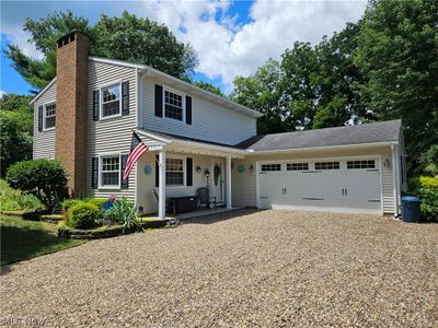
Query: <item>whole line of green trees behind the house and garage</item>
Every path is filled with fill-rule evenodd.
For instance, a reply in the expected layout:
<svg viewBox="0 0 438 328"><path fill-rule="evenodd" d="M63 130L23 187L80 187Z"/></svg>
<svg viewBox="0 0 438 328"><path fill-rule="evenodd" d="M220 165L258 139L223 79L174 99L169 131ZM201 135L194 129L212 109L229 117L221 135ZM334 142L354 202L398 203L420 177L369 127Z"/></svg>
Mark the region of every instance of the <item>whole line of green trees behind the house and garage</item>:
<svg viewBox="0 0 438 328"><path fill-rule="evenodd" d="M90 35L93 56L149 65L188 82L198 65L192 46L165 25L128 12L103 14L95 25L56 12L27 19L23 28L44 59L25 56L16 45L5 55L34 92L55 77L56 39L72 30ZM194 84L223 96L210 83ZM23 110L26 105L15 97L1 99L2 126L5 112L20 112L32 122L32 108ZM261 134L402 118L411 174L438 174L438 2L371 0L362 17L343 31L316 45L297 42L280 60L268 59L254 74L237 77L229 97L263 114ZM14 129L32 134L28 125ZM7 140L10 133L15 132L2 128L2 173L5 159L16 159L4 147L16 143ZM21 153L32 156L28 145Z"/></svg>

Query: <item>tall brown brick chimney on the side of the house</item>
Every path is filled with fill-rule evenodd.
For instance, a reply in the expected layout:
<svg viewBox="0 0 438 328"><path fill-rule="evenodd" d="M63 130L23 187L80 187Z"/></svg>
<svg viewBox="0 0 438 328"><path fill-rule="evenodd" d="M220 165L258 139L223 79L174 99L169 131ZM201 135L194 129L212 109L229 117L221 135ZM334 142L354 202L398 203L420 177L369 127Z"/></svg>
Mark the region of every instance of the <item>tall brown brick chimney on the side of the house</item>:
<svg viewBox="0 0 438 328"><path fill-rule="evenodd" d="M88 51L87 34L73 31L57 42L56 159L69 173L69 191L87 192Z"/></svg>

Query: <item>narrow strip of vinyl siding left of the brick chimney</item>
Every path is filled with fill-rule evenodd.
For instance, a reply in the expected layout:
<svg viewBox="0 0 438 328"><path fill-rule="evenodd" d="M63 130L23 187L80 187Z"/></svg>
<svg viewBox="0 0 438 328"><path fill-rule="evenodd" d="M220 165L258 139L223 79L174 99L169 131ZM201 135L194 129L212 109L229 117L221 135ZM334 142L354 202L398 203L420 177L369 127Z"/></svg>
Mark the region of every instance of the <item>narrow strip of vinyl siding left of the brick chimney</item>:
<svg viewBox="0 0 438 328"><path fill-rule="evenodd" d="M44 92L34 103L34 144L33 157L36 159L55 159L55 139L56 130L48 129L38 131L38 107L43 106L43 116L46 105L56 103L56 81L46 92ZM44 125L44 117L43 117Z"/></svg>

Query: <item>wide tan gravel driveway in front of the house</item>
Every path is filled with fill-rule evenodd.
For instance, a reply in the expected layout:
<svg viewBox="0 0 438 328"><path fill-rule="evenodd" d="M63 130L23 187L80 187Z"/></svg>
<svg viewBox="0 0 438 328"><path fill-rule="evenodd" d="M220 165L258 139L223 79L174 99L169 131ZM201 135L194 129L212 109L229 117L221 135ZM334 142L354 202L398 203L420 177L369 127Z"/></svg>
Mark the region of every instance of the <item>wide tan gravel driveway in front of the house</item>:
<svg viewBox="0 0 438 328"><path fill-rule="evenodd" d="M2 325L437 327L438 225L241 211L5 267L0 295Z"/></svg>

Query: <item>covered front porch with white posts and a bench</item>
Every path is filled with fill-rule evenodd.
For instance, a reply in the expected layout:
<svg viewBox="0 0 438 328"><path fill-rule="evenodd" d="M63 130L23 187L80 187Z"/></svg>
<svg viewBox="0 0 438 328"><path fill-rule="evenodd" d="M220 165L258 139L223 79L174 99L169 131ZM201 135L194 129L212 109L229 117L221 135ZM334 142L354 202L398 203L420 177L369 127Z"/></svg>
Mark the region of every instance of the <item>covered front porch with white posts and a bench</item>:
<svg viewBox="0 0 438 328"><path fill-rule="evenodd" d="M181 139L168 140L162 134L143 131L138 131L138 134L146 139L143 142L149 148L136 168L136 199L140 213L159 219L185 220L232 210L231 161L243 157L235 149ZM200 189L204 189L203 192L208 190L211 201L211 204L200 203L201 211L193 204L205 199L199 197ZM183 206L177 206L180 199ZM210 206L215 208L210 209Z"/></svg>

